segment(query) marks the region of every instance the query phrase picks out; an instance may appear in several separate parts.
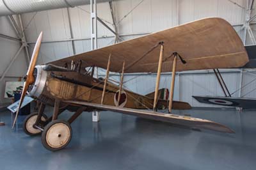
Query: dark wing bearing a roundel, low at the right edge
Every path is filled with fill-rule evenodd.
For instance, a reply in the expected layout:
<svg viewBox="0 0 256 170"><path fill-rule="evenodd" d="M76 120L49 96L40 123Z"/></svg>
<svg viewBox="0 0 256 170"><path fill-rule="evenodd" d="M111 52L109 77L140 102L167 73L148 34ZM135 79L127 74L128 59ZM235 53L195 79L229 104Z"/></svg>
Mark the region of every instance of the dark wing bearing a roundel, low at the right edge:
<svg viewBox="0 0 256 170"><path fill-rule="evenodd" d="M212 96L193 96L198 102L204 104L225 105L231 107L243 107L244 109L255 109L256 98L241 97L212 97Z"/></svg>

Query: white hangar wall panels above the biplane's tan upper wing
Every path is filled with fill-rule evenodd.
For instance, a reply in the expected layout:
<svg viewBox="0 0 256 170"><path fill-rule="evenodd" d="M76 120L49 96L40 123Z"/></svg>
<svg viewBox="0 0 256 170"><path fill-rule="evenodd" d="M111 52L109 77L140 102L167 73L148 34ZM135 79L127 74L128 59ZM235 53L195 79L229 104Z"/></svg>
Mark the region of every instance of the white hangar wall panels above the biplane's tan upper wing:
<svg viewBox="0 0 256 170"><path fill-rule="evenodd" d="M246 0L236 1L242 6L245 6L245 2ZM118 33L120 35L133 35L125 36L125 40L205 17L221 17L228 20L232 25L243 24L244 22L243 8L230 3L228 0L144 0L131 14L127 15L138 3L140 3L138 0L115 1L114 3L116 20L119 21L124 18L118 24ZM74 44L77 54L91 49L90 13L87 13L90 11L89 7L86 5L70 8L70 20L73 38L76 39ZM101 19L113 23L108 3L98 4L97 11ZM35 13L22 15L28 42L35 42L40 31L44 31L44 42L70 39L66 8L37 12L35 17L34 15ZM127 17L124 17L125 15ZM111 24L108 26L113 28ZM241 26L235 27L239 35L241 35L240 28ZM113 34L100 23L98 23L98 36L99 47L113 43ZM102 38L106 36L112 37ZM43 57L40 57L38 63L72 56L73 51L70 42L44 43L41 54Z"/></svg>

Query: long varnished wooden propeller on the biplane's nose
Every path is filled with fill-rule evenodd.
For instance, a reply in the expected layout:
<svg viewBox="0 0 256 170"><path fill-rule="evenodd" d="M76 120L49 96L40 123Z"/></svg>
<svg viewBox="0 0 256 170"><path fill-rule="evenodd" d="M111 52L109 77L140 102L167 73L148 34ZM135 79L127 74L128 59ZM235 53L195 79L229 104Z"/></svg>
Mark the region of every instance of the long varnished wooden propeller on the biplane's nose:
<svg viewBox="0 0 256 170"><path fill-rule="evenodd" d="M42 37L43 37L43 32L40 33L40 35L38 36L38 38L36 40L36 45L35 45L35 48L33 50L31 61L29 63L28 72L27 72L26 77L25 77L25 82L24 82L24 86L23 86L23 89L22 89L19 106L18 106L18 109L17 109L17 112L16 112L15 119L13 121L12 128L14 127L14 125L17 121L19 110L20 110L20 107L21 107L22 102L24 100L24 97L26 95L26 92L28 91L28 87L29 87L30 84L33 84L33 82L35 81L35 79L33 77L33 72L35 70L36 61L37 61L38 53L39 53L41 42L42 42Z"/></svg>

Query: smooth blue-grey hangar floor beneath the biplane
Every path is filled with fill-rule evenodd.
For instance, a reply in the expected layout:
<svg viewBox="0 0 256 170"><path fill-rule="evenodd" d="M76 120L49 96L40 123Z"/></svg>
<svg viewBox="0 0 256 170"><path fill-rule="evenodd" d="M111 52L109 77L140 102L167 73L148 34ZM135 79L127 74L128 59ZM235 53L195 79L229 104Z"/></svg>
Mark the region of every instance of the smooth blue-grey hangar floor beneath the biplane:
<svg viewBox="0 0 256 170"><path fill-rule="evenodd" d="M51 112L51 109L48 110ZM10 112L0 112L0 169L256 169L256 111L175 111L223 123L236 134L101 112L92 123L84 112L72 123L73 137L61 151L45 150L41 137L11 129ZM67 119L64 112L60 119Z"/></svg>

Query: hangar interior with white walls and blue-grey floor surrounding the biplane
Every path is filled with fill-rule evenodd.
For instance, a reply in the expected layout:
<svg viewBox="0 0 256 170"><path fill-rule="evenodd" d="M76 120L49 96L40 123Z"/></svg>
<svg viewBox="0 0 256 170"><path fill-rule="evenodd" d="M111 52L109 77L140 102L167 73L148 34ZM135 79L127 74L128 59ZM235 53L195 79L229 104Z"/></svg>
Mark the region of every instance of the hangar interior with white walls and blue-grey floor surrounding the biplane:
<svg viewBox="0 0 256 170"><path fill-rule="evenodd" d="M174 112L223 123L236 134L191 130L111 111L101 112L95 123L92 114L84 113L72 124L67 148L51 152L44 150L39 137L13 130L6 110L12 100L4 98L6 82L26 75L40 32L44 36L38 65L93 49L90 1L48 0L33 7L27 5L31 2L0 1L0 120L6 124L0 127L1 169L255 169L255 111L202 104L192 97L224 96L212 70L176 73L173 99L193 109ZM255 45L255 5L253 0L97 1L97 48L207 17L227 20L244 45ZM255 69L220 71L232 97L256 98ZM106 71L97 74L105 77ZM109 76L120 81L120 75ZM125 73L124 87L146 95L154 91L156 78L156 73ZM172 73L163 73L159 89L169 88L171 79Z"/></svg>

